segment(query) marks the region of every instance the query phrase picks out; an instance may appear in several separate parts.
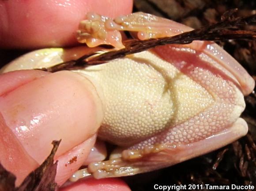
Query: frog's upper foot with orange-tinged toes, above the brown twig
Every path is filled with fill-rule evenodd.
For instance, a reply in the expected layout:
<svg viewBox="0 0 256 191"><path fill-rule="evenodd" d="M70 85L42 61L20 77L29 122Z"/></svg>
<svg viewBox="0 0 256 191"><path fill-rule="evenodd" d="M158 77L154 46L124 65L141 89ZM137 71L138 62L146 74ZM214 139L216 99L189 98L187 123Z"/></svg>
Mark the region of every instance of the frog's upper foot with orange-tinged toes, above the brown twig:
<svg viewBox="0 0 256 191"><path fill-rule="evenodd" d="M129 31L134 37L147 40L184 32L179 27L175 27L175 23L143 12L119 16L115 19L96 13L87 13L86 20L79 24L77 40L80 43L86 43L89 47L109 44L120 49L124 48L120 31ZM187 30L192 29L187 27Z"/></svg>

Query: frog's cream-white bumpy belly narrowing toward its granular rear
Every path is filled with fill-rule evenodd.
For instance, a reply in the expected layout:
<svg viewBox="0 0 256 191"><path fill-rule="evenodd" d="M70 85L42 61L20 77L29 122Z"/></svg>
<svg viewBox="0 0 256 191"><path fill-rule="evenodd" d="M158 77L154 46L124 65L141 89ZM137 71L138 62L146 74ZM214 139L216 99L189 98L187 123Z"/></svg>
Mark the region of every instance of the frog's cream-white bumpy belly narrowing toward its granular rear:
<svg viewBox="0 0 256 191"><path fill-rule="evenodd" d="M180 64L186 65L185 62ZM106 113L99 136L126 147L143 140L146 140L143 146L154 143L192 143L228 127L244 110L241 91L207 70L194 70L205 72L201 81L207 85L217 79L217 84L212 85L218 88L218 92L209 87L204 88L199 81L194 81L150 51L79 70L101 84L104 92ZM218 98L218 94L223 94L220 89L231 97L224 95L223 99ZM225 103L225 97L238 102L234 105L232 101L226 100ZM230 109L223 110L215 118L209 116L218 107L217 113L221 113L223 107ZM207 119L209 117L211 119ZM161 133L163 135L159 137ZM132 148L142 148L142 145Z"/></svg>

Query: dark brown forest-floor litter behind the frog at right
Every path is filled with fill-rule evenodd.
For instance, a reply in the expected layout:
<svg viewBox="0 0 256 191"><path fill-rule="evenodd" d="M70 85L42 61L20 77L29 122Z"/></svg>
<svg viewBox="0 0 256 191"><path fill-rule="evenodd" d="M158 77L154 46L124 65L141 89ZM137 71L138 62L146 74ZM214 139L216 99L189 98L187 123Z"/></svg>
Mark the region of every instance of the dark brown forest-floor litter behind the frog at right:
<svg viewBox="0 0 256 191"><path fill-rule="evenodd" d="M255 0L134 0L134 12L143 11L181 22L192 28L215 24L221 15L238 8L236 16L256 14ZM256 31L256 26L245 26ZM218 43L256 80L256 42L227 40ZM255 90L255 89L254 89ZM132 191L153 190L154 184L210 184L256 186L256 94L245 97L242 114L248 135L230 145L166 169L126 177Z"/></svg>

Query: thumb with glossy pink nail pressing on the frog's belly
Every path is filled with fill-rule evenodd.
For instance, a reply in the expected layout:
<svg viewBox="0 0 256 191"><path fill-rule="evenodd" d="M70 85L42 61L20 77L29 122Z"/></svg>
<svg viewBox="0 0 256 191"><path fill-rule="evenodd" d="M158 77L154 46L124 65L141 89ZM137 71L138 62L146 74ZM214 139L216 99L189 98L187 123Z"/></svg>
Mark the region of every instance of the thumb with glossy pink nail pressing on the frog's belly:
<svg viewBox="0 0 256 191"><path fill-rule="evenodd" d="M0 134L6 134L4 140L0 139L1 146L6 147L2 149L4 153L0 154L0 160L5 161L4 165L11 172L15 170L20 183L29 173L28 170L35 167L29 163L41 164L52 149L51 142L60 139L62 142L56 158L67 154L62 157L61 164L65 165L72 159L67 157L68 154L75 153L83 158L79 158L79 164L82 165L94 145L95 133L104 114L102 102L93 84L84 76L71 71L47 73L20 70L0 75L0 80L4 82L12 81L12 78L12 84L1 87L4 94L0 96ZM8 142L17 143L8 144L5 141L7 138ZM83 147L77 149L83 142ZM28 158L28 164L19 168L6 158L16 157L15 163L23 164L23 155ZM75 171L78 168L79 165L70 165L66 169ZM60 175L65 173L64 169L59 172ZM67 180L68 176L64 179Z"/></svg>

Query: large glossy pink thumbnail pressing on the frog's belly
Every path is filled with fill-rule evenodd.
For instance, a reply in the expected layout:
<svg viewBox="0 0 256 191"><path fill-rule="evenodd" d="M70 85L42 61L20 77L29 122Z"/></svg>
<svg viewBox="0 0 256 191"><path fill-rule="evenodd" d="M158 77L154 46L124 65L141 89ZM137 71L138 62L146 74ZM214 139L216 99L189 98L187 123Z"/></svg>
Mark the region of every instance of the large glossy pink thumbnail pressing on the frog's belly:
<svg viewBox="0 0 256 191"><path fill-rule="evenodd" d="M62 140L58 157L96 133L103 119L94 85L70 71L46 75L2 95L0 112L39 164L49 155L53 140Z"/></svg>

